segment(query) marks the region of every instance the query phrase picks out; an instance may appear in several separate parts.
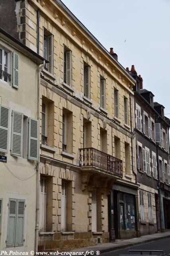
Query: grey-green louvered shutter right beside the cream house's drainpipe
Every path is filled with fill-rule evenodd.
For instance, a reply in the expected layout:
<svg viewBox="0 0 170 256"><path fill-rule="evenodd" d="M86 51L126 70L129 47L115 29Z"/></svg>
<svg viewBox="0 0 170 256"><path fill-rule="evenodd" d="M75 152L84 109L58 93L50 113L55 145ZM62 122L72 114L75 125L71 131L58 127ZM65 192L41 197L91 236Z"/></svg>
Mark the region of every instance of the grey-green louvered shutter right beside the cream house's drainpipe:
<svg viewBox="0 0 170 256"><path fill-rule="evenodd" d="M29 118L28 159L38 160L39 156L39 122Z"/></svg>

